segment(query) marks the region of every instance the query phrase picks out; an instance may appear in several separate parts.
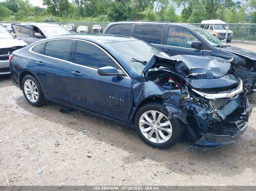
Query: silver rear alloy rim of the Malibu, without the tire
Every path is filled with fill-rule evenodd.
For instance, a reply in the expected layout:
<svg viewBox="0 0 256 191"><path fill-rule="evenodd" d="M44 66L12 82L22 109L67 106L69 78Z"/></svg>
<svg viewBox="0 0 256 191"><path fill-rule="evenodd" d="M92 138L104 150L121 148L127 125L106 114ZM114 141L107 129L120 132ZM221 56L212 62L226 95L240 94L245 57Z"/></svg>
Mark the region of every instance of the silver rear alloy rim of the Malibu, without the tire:
<svg viewBox="0 0 256 191"><path fill-rule="evenodd" d="M38 89L32 80L25 81L24 92L29 101L35 103L38 100Z"/></svg>

